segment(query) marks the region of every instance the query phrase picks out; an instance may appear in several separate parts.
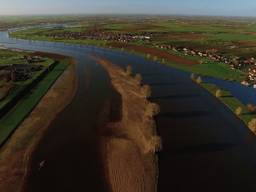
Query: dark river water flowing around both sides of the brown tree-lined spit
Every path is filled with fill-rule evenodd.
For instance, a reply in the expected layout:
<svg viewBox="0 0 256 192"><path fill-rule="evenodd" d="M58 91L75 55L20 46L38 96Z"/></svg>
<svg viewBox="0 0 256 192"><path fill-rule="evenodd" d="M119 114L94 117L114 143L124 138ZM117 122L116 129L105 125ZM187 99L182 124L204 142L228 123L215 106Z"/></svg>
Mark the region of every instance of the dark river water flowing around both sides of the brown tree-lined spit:
<svg viewBox="0 0 256 192"><path fill-rule="evenodd" d="M11 40L6 33L0 34L0 42L66 54L78 61L78 91L38 146L27 191L108 191L98 144L104 119L100 114L112 91L105 71L90 60L92 53L123 67L131 64L152 86L151 99L161 107L156 121L163 139L158 191L256 191L256 137L224 105L191 82L187 73L90 46ZM224 86L225 82L218 83ZM254 91L236 84L226 87L241 97ZM42 160L45 167L38 171Z"/></svg>

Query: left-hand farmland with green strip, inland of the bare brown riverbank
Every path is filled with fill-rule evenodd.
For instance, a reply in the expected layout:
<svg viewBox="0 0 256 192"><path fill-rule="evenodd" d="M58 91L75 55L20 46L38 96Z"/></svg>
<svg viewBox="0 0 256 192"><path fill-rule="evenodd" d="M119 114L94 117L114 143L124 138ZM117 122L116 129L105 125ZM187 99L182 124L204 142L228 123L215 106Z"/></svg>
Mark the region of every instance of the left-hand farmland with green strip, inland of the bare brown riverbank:
<svg viewBox="0 0 256 192"><path fill-rule="evenodd" d="M1 70L7 71L8 64L15 66L29 66L25 64L27 60L24 56L31 53L17 52L10 50L0 51ZM1 95L5 95L0 100L0 145L2 145L18 125L28 116L55 80L67 67L67 62L54 63L52 59L42 58L36 64L41 66L40 70L30 72L30 76L23 80L6 80L5 76L1 80ZM7 67L6 67L7 66ZM25 72L24 72L25 73ZM7 74L8 75L8 74ZM8 91L6 91L8 87Z"/></svg>

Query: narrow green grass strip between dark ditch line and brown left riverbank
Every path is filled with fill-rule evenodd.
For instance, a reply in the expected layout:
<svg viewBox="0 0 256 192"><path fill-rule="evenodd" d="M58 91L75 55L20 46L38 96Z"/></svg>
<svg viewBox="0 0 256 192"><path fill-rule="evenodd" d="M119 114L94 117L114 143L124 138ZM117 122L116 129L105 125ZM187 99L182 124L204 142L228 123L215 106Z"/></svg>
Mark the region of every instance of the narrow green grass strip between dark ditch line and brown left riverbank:
<svg viewBox="0 0 256 192"><path fill-rule="evenodd" d="M0 119L0 145L4 144L19 124L30 114L67 66L67 61L58 63L11 111Z"/></svg>

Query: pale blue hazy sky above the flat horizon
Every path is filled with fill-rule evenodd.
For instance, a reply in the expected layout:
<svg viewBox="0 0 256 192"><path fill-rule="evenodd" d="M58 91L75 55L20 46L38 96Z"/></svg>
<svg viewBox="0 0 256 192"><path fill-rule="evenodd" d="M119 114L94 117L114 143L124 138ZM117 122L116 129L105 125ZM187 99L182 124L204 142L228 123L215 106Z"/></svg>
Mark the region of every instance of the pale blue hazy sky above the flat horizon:
<svg viewBox="0 0 256 192"><path fill-rule="evenodd" d="M256 16L256 0L0 0L0 15L34 14Z"/></svg>

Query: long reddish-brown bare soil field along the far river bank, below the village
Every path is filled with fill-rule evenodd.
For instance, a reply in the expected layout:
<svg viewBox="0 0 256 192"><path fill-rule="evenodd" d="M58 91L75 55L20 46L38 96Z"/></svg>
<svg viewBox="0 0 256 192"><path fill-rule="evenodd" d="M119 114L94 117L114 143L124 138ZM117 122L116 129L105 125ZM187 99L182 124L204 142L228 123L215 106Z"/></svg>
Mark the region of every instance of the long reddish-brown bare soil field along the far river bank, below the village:
<svg viewBox="0 0 256 192"><path fill-rule="evenodd" d="M124 49L130 50L130 51L135 51L135 52L142 53L142 54L150 54L153 57L163 58L163 59L166 59L167 61L174 62L177 64L183 64L183 65L199 64L198 61L188 60L183 57L173 55L165 50L160 50L160 49L152 48L152 47L146 47L143 45L132 45L132 44L116 43L116 42L109 43L108 45L111 47L115 47L115 48L124 48Z"/></svg>

